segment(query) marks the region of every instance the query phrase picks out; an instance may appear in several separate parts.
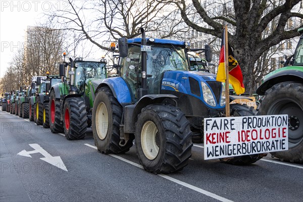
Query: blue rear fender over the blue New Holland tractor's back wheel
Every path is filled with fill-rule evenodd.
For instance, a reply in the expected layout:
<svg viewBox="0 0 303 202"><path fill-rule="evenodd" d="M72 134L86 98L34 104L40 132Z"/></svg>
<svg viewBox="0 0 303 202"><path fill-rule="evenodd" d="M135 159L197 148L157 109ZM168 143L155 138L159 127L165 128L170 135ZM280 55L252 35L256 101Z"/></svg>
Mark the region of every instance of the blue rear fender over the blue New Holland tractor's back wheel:
<svg viewBox="0 0 303 202"><path fill-rule="evenodd" d="M131 103L132 100L131 100L130 91L123 78L112 77L105 79L95 89L95 94L99 91L100 88L105 86L108 86L112 90L114 97L116 97L116 99L120 104Z"/></svg>

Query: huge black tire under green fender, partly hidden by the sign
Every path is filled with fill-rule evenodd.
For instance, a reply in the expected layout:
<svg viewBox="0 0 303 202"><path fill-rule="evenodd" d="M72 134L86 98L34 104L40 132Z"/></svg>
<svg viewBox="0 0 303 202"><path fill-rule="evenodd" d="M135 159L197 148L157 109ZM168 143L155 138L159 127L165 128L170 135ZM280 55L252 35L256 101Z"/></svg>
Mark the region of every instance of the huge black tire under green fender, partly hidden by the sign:
<svg viewBox="0 0 303 202"><path fill-rule="evenodd" d="M271 153L281 161L303 163L303 84L282 82L265 92L260 115L288 114L288 150Z"/></svg>

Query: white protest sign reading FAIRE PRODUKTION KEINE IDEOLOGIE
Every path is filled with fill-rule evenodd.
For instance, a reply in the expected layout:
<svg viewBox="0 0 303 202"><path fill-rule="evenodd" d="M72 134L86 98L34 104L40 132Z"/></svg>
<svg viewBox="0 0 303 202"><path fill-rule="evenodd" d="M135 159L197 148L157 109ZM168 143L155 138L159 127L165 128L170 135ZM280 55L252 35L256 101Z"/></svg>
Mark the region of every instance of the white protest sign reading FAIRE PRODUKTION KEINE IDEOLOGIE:
<svg viewBox="0 0 303 202"><path fill-rule="evenodd" d="M204 119L204 159L288 149L288 115Z"/></svg>

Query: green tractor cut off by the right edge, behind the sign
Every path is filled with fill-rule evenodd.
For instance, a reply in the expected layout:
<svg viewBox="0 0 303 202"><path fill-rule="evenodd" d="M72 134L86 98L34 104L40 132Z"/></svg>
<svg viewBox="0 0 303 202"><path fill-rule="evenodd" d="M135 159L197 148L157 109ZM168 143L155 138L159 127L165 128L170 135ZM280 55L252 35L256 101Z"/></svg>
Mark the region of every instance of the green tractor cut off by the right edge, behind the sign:
<svg viewBox="0 0 303 202"><path fill-rule="evenodd" d="M281 161L303 163L303 28L294 55L268 74L257 89L260 115L288 114L288 150L271 153ZM292 60L291 60L292 59Z"/></svg>

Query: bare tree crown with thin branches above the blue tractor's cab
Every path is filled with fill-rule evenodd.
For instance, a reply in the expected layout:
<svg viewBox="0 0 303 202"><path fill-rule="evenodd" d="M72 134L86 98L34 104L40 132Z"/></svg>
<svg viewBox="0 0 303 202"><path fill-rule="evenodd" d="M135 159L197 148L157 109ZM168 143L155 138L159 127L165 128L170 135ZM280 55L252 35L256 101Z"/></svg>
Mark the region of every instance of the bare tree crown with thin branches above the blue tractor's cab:
<svg viewBox="0 0 303 202"><path fill-rule="evenodd" d="M68 2L69 9L46 14L49 20L57 24L58 29L72 31L77 42L87 39L107 51L110 51L110 41L123 36L137 37L141 27L147 35L153 33L159 38L188 31L188 26L178 27L183 20L172 12L177 7L157 0L99 0L81 5L76 1ZM92 18L86 16L88 13Z"/></svg>

